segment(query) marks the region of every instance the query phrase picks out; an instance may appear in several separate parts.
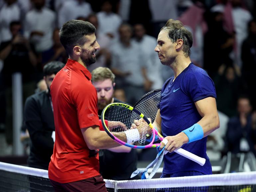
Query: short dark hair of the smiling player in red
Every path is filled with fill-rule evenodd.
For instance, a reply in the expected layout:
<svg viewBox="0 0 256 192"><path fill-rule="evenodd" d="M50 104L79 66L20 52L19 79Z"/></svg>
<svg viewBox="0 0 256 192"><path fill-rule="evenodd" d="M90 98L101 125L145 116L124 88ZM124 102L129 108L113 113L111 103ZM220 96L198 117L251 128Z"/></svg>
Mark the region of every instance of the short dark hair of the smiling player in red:
<svg viewBox="0 0 256 192"><path fill-rule="evenodd" d="M67 53L71 54L74 46L84 44L85 35L91 35L95 31L95 27L87 21L70 20L64 23L60 30L60 41Z"/></svg>

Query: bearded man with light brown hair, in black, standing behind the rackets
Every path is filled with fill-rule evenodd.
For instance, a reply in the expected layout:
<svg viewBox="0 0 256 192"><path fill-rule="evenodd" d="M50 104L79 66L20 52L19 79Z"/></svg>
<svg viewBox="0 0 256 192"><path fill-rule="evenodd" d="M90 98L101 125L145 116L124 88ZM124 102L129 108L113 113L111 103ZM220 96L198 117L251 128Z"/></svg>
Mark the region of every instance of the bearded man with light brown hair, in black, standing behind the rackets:
<svg viewBox="0 0 256 192"><path fill-rule="evenodd" d="M125 103L113 97L115 75L107 67L97 67L91 72L91 81L98 96L98 115L110 103ZM135 149L121 145L102 149L99 152L100 173L104 179L130 180L133 171L137 170L137 152ZM139 176L132 179L140 179Z"/></svg>

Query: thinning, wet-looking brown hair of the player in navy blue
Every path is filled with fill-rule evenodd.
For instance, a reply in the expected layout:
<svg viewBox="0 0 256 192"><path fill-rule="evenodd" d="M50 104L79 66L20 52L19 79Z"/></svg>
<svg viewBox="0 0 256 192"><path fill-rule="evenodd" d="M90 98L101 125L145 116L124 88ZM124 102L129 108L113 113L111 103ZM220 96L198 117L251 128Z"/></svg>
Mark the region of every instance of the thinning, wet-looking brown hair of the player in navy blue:
<svg viewBox="0 0 256 192"><path fill-rule="evenodd" d="M182 24L181 21L179 20L173 20L169 19L165 26L162 27L162 30L166 30L169 35L169 39L171 40L172 43L177 42L178 39L183 40L183 52L186 57L191 55L191 50L190 48L192 47L193 44L193 38L192 34L189 30L187 30L184 25Z"/></svg>

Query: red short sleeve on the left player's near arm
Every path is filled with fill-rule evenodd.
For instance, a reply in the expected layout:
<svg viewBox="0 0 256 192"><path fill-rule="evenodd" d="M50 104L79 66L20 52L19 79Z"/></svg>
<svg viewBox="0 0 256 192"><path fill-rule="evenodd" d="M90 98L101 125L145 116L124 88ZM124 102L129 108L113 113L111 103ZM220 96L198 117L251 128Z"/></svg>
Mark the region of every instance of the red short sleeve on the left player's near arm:
<svg viewBox="0 0 256 192"><path fill-rule="evenodd" d="M72 90L79 127L82 129L94 125L99 126L97 92L93 85L86 83Z"/></svg>

